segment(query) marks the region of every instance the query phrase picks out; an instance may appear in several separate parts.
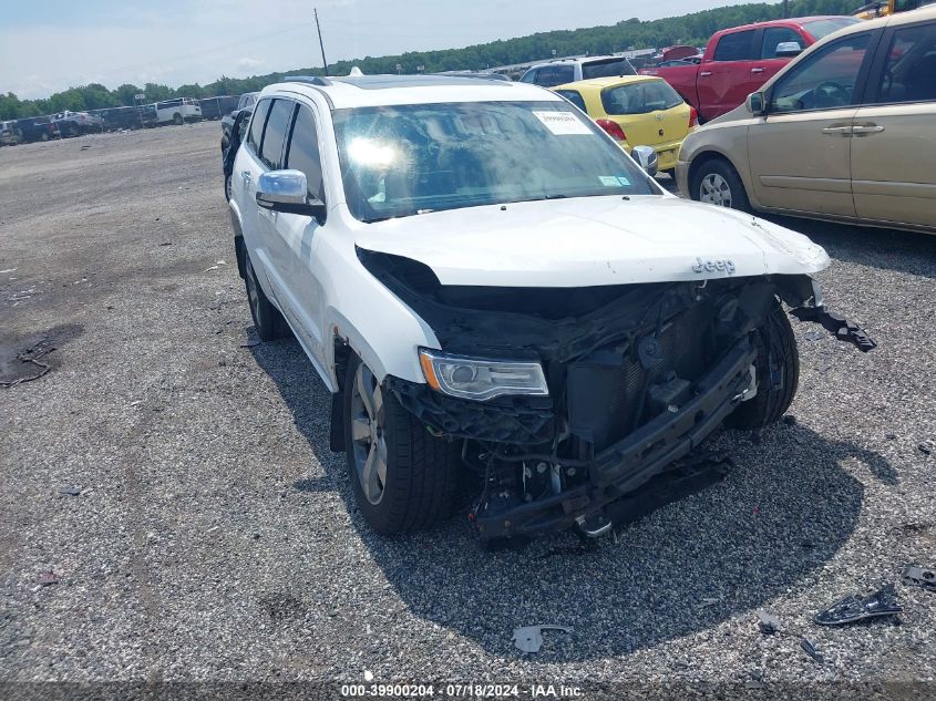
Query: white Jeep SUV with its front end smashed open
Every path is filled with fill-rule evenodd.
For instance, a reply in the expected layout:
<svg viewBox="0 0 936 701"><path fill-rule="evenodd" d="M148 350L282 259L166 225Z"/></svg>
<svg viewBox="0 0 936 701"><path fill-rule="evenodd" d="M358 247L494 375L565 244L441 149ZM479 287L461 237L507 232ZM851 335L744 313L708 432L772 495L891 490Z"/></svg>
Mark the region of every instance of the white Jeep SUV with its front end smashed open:
<svg viewBox="0 0 936 701"><path fill-rule="evenodd" d="M799 377L780 300L865 350L808 238L664 192L547 90L462 76L263 91L230 214L261 339L332 392L367 522L483 538L608 528L723 421L776 421Z"/></svg>

